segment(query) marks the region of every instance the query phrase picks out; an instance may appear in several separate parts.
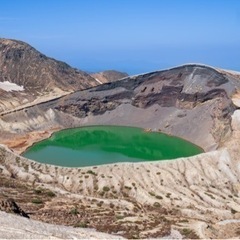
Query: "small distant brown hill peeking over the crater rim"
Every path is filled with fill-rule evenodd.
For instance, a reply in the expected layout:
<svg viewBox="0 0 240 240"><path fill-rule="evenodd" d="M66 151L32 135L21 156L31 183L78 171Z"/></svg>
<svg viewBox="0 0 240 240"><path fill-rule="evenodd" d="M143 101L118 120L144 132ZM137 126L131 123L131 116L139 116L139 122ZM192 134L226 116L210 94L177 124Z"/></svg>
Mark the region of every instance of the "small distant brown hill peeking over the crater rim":
<svg viewBox="0 0 240 240"><path fill-rule="evenodd" d="M108 70L91 74L99 83L113 82L121 78L127 77L128 74L124 72L118 72L115 70Z"/></svg>

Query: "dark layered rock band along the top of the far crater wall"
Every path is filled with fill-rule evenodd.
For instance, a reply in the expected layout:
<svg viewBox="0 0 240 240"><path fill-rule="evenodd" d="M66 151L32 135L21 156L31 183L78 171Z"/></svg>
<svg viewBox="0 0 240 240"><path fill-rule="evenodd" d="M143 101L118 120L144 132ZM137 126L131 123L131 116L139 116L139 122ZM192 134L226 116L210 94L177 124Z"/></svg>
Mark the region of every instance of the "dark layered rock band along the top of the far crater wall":
<svg viewBox="0 0 240 240"><path fill-rule="evenodd" d="M195 74L193 75L193 73ZM196 82L194 82L194 78L197 79ZM109 105L109 103L118 106L126 99L131 102L131 105L139 108L148 108L158 104L161 107L189 109L217 98L229 100L226 90L220 88L221 85L226 83L228 83L228 79L212 68L187 65L168 71L140 75L134 78L129 77L118 82L103 84L82 94L83 96L87 95L89 100L81 97L81 92L75 93L63 99L66 99L66 105L62 101L63 103L56 109L64 109L64 111L69 112L67 110L69 99L71 101L72 99L74 99L73 101L77 100L78 108L86 113L91 111L92 108L88 107L90 105L99 105L98 109L103 108L107 111L109 108L106 105ZM117 93L112 91L117 88L123 88L124 90ZM97 94L99 95L97 96L96 93L99 91L106 92L106 94ZM233 91L234 87L232 86L231 92ZM83 105L81 105L82 102L84 102ZM92 112L94 114L103 113L103 111Z"/></svg>

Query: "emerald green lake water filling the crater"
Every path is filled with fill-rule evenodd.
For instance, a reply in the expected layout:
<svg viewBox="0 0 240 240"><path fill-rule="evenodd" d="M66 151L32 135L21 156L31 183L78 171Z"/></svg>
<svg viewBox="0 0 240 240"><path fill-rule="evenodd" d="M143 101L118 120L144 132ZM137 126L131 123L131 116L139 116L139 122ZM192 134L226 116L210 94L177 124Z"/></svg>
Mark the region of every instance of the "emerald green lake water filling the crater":
<svg viewBox="0 0 240 240"><path fill-rule="evenodd" d="M37 162L83 167L193 156L198 146L159 132L119 126L67 129L34 144L23 156Z"/></svg>

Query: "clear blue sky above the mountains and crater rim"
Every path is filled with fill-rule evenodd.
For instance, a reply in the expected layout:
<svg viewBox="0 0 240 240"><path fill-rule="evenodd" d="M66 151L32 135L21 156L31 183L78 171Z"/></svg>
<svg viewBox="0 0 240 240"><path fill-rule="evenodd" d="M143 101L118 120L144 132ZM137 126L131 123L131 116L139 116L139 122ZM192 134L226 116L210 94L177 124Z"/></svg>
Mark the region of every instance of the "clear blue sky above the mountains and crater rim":
<svg viewBox="0 0 240 240"><path fill-rule="evenodd" d="M239 0L0 0L0 37L88 71L240 71Z"/></svg>

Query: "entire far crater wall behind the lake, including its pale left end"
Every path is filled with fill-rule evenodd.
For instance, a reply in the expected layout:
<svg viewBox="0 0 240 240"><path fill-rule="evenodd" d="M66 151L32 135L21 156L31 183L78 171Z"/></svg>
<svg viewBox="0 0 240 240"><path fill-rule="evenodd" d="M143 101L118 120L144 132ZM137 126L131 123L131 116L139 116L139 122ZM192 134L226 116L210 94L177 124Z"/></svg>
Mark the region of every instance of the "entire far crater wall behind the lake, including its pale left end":
<svg viewBox="0 0 240 240"><path fill-rule="evenodd" d="M237 108L232 98L239 86L239 76L202 65L126 77L4 114L2 142L14 147L10 135L19 145L30 133L42 138L56 129L110 124L150 128L214 150L231 136L231 115Z"/></svg>

